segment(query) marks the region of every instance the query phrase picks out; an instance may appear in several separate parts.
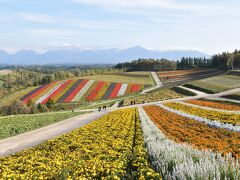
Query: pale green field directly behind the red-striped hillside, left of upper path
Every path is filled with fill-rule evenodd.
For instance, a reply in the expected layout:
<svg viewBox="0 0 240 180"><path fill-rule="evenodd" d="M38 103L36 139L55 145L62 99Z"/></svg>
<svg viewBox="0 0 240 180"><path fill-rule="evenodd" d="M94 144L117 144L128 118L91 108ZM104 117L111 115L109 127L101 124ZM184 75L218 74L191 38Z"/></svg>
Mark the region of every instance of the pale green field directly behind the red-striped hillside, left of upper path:
<svg viewBox="0 0 240 180"><path fill-rule="evenodd" d="M82 78L127 84L144 84L144 85L154 84L149 72L122 72L109 75L84 76Z"/></svg>

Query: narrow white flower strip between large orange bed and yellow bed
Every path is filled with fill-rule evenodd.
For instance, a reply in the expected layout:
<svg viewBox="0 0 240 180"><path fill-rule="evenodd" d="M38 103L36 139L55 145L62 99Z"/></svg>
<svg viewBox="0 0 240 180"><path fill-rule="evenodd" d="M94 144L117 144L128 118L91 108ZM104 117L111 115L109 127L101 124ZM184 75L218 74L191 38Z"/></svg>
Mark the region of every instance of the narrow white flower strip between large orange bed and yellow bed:
<svg viewBox="0 0 240 180"><path fill-rule="evenodd" d="M169 108L163 104L157 104L158 106L160 106L161 108L167 110L167 111L170 111L170 112L173 112L175 114L178 114L180 116L183 116L183 117L187 117L187 118L191 118L191 119L194 119L196 121L199 121L199 122L203 122L211 127L214 127L214 128L223 128L223 129L227 129L227 130L230 130L230 131L235 131L235 132L240 132L240 126L234 126L232 124L225 124L225 123L222 123L222 122L219 122L219 121L214 121L214 120L209 120L209 119L206 119L206 118L202 118L202 117L199 117L199 116L196 116L196 115L191 115L191 114L187 114L187 113L184 113L182 111L178 111L178 110L174 110L172 108Z"/></svg>

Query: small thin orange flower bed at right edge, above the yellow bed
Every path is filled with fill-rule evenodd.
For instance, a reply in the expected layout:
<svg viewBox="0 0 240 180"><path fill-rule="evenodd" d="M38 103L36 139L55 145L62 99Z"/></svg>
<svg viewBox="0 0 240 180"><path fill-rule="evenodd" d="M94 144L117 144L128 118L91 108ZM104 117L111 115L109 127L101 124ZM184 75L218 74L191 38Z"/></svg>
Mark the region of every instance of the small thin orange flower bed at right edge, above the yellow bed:
<svg viewBox="0 0 240 180"><path fill-rule="evenodd" d="M206 107L211 107L211 108L216 108L216 109L240 111L240 106L225 104L225 103L221 103L221 102L212 102L212 101L207 101L207 100L189 100L186 102L190 103L190 104L206 106Z"/></svg>

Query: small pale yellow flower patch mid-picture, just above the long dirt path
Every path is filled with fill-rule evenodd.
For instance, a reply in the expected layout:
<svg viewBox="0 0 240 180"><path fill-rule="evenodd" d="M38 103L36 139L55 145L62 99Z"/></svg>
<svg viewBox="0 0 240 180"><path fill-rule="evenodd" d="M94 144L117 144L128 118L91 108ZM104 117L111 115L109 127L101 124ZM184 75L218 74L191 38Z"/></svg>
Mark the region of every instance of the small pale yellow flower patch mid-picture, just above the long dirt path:
<svg viewBox="0 0 240 180"><path fill-rule="evenodd" d="M150 94L140 95L134 98L126 98L124 100L124 105L130 105L131 101L135 101L136 104L141 104L143 102L156 102L163 101L167 99L175 99L183 97L181 94L176 93L173 90L165 89L159 90Z"/></svg>

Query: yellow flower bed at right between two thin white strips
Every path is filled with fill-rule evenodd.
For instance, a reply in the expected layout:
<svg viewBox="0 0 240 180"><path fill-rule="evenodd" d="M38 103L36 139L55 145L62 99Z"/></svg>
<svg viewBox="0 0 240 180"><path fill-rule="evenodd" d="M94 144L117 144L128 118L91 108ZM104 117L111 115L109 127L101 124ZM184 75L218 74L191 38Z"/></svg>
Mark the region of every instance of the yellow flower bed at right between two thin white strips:
<svg viewBox="0 0 240 180"><path fill-rule="evenodd" d="M207 110L207 109L188 106L188 105L176 103L176 102L165 103L165 105L172 109L179 110L188 114L200 116L203 118L207 118L210 120L216 120L224 123L231 123L234 125L238 125L240 123L240 114Z"/></svg>

